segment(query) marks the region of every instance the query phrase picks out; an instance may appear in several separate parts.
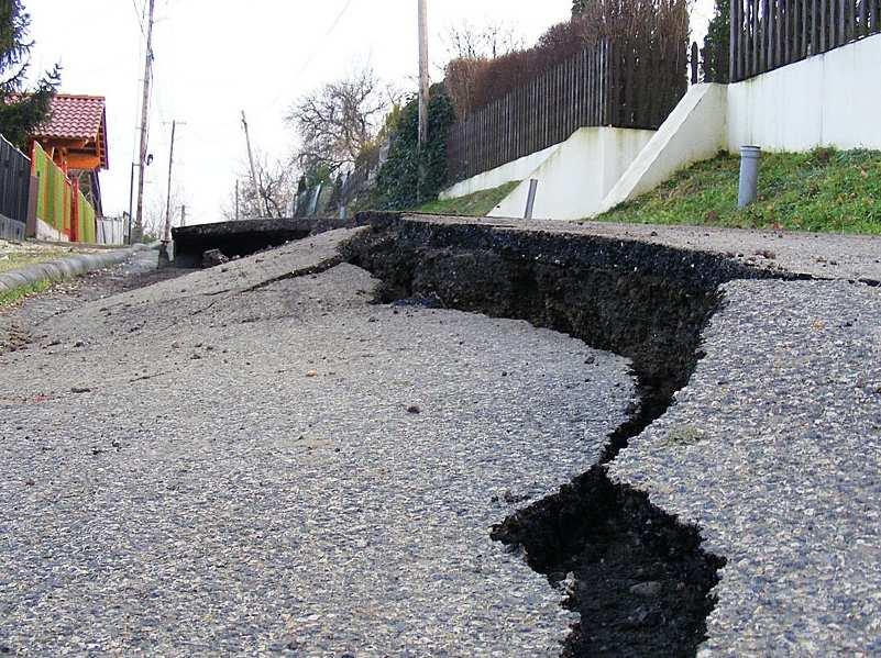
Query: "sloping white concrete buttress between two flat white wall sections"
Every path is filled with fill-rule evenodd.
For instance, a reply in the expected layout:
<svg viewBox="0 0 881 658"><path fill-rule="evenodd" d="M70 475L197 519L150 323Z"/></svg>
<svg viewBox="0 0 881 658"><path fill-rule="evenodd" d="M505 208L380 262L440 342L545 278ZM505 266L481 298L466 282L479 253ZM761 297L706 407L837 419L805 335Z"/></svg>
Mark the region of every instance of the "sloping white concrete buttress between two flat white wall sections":
<svg viewBox="0 0 881 658"><path fill-rule="evenodd" d="M725 86L691 87L598 205L596 214L653 190L689 165L712 158L725 148Z"/></svg>

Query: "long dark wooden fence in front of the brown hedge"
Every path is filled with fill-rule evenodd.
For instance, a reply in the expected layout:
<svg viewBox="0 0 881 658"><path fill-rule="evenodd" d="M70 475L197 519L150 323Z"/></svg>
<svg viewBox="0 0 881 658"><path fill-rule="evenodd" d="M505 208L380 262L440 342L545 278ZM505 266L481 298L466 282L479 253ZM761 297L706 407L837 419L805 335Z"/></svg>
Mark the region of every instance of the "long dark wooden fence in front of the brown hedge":
<svg viewBox="0 0 881 658"><path fill-rule="evenodd" d="M687 54L604 41L456 122L449 176L464 180L568 140L580 127L658 129L685 93Z"/></svg>

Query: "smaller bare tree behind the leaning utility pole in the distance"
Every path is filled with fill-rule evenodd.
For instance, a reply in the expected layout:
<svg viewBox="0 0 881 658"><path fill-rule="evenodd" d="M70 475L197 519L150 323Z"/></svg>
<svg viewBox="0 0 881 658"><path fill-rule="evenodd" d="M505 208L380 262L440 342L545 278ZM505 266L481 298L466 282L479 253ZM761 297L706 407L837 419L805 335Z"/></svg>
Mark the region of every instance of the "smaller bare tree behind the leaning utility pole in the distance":
<svg viewBox="0 0 881 658"><path fill-rule="evenodd" d="M284 219L290 214L294 204L294 196L297 193L297 180L299 169L293 161L271 160L266 154L254 154L254 169L257 174L257 187L260 188L261 202L251 182L251 170L245 164L239 166L235 175L239 181L239 219L254 220L264 216L265 208L269 211L269 216ZM230 191L230 198L222 208L221 213L228 221L234 221L235 216L235 191Z"/></svg>

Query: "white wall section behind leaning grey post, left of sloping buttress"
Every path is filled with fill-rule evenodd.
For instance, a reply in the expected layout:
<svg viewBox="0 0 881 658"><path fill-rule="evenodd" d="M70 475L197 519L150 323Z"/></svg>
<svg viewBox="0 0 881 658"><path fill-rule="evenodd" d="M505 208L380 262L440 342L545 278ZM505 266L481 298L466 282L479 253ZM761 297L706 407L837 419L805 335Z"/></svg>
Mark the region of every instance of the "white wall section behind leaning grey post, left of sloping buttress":
<svg viewBox="0 0 881 658"><path fill-rule="evenodd" d="M529 179L539 181L535 219L580 220L596 213L654 131L583 127L563 142L489 216L521 218Z"/></svg>

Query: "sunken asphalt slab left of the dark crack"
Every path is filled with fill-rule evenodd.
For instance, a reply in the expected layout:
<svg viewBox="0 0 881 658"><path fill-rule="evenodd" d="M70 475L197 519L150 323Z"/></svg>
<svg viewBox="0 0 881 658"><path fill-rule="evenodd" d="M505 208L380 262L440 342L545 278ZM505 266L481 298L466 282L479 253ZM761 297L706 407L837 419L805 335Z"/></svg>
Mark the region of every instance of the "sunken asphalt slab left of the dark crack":
<svg viewBox="0 0 881 658"><path fill-rule="evenodd" d="M41 320L0 356L0 646L559 655L489 528L598 458L628 363L371 304L339 231Z"/></svg>

